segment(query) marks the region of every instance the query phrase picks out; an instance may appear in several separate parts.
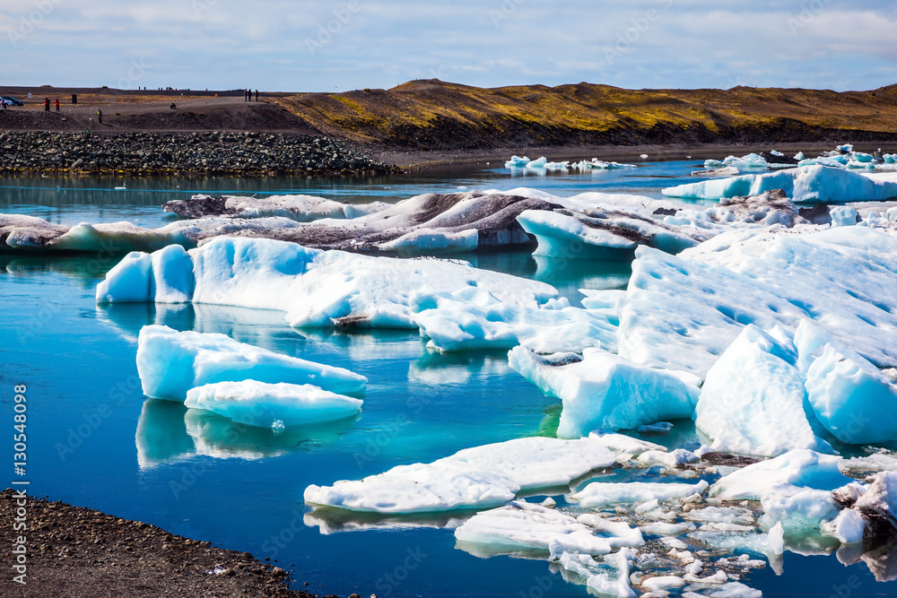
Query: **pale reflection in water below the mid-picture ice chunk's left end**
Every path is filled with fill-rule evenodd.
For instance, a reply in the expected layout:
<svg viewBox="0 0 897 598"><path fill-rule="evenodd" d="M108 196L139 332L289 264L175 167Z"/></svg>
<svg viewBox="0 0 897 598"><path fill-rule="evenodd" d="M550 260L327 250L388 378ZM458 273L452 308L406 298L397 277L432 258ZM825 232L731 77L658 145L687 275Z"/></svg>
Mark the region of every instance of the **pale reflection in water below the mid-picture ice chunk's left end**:
<svg viewBox="0 0 897 598"><path fill-rule="evenodd" d="M428 386L467 384L471 378L485 380L510 373L508 355L458 351L440 353L426 351L408 366L408 380Z"/></svg>

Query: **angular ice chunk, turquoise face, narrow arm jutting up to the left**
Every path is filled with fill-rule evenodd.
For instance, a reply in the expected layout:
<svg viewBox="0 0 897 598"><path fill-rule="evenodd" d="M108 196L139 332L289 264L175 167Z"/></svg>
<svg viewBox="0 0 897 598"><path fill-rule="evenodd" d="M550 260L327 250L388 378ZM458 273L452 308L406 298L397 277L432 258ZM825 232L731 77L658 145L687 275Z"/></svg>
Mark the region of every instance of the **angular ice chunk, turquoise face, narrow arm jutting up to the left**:
<svg viewBox="0 0 897 598"><path fill-rule="evenodd" d="M689 374L645 368L606 351L586 350L583 360L557 366L517 347L508 360L544 393L562 400L562 438L586 436L596 428L634 429L690 417L699 392Z"/></svg>

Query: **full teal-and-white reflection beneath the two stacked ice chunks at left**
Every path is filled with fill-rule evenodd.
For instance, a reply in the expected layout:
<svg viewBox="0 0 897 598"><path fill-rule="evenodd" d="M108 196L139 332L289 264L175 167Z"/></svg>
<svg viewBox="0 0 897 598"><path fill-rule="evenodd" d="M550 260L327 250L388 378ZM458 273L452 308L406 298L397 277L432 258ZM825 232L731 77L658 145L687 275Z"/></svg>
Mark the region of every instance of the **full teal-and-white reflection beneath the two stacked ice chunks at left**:
<svg viewBox="0 0 897 598"><path fill-rule="evenodd" d="M357 418L278 431L236 423L180 403L148 399L137 421L137 464L149 469L196 455L257 460L286 455L309 444L334 442Z"/></svg>

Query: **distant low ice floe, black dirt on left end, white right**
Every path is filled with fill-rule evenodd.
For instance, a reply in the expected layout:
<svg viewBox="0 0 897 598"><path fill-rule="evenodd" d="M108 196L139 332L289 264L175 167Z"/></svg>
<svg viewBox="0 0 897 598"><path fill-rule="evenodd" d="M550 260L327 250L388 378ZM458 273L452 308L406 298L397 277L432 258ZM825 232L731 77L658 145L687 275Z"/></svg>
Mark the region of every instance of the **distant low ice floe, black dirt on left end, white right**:
<svg viewBox="0 0 897 598"><path fill-rule="evenodd" d="M310 222L324 218L352 219L389 207L384 202L343 204L313 195L269 195L246 197L240 195L194 195L188 200L173 200L162 206L165 212L184 218L229 216L231 218L288 218Z"/></svg>

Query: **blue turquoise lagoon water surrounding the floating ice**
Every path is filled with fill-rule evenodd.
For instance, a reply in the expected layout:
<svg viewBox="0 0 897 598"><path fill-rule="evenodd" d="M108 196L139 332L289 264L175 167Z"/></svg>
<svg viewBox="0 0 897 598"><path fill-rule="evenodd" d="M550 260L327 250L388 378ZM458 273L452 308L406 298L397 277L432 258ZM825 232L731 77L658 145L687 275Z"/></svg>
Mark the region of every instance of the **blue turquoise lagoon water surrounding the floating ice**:
<svg viewBox="0 0 897 598"><path fill-rule="evenodd" d="M129 180L125 191L114 191L120 181L113 179L4 178L0 212L152 226L165 221L161 203L200 191L370 201L458 186L525 185L559 195L604 190L658 196L660 187L689 180L693 163L582 177L511 178L502 169L366 181L157 178ZM573 302L577 289L620 288L629 274L626 266L597 268L519 252L464 257L479 267L551 281ZM559 402L510 371L505 351L440 355L404 331L300 332L285 325L282 314L262 310L98 308L94 288L114 264L92 256L0 255L0 387L7 389L0 408L11 416L12 386L28 386L32 494L249 550L276 560L299 585L309 582L319 594L587 595L542 560L481 559L457 550L451 531L441 529L447 519L392 527L371 526L364 518L314 520L302 503L312 483L358 479L468 446L553 434ZM350 368L370 378L361 417L274 435L146 400L136 377L135 339L148 324L228 334ZM659 441L697 446L688 421L676 422L675 434ZM839 595L841 586L852 596L897 593L894 584L874 583L861 564L843 567L834 557L790 552L784 576L767 568L746 582L766 596Z"/></svg>

